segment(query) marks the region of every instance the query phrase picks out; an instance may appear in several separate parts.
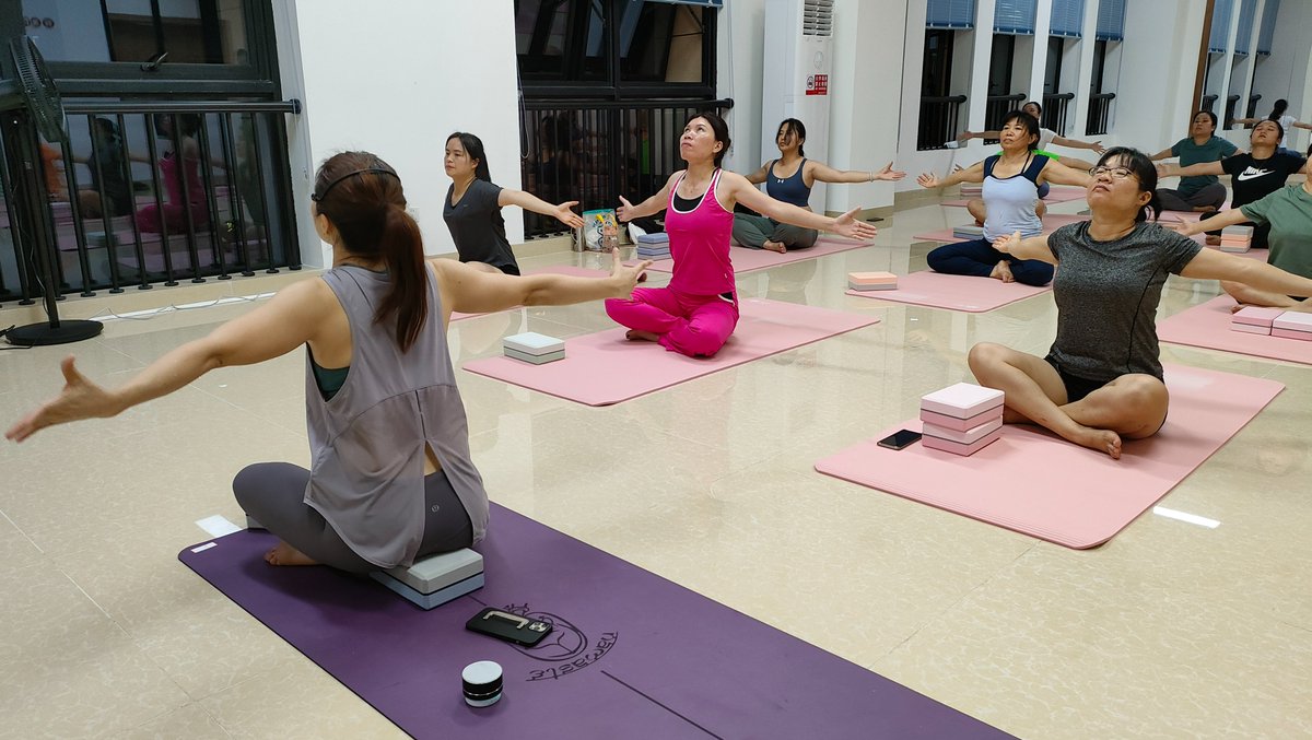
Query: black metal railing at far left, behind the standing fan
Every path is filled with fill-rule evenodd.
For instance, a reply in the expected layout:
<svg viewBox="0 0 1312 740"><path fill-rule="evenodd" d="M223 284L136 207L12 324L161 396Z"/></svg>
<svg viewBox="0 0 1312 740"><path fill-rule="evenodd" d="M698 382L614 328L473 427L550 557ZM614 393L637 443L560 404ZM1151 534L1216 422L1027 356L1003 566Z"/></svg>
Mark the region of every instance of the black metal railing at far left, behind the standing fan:
<svg viewBox="0 0 1312 740"><path fill-rule="evenodd" d="M5 177L0 300L39 297L34 251L51 247L60 295L299 268L283 119L298 110L294 101L66 102L68 139L28 152L43 168L47 228L22 227ZM7 173L24 165L5 151ZM37 243L37 232L52 236Z"/></svg>

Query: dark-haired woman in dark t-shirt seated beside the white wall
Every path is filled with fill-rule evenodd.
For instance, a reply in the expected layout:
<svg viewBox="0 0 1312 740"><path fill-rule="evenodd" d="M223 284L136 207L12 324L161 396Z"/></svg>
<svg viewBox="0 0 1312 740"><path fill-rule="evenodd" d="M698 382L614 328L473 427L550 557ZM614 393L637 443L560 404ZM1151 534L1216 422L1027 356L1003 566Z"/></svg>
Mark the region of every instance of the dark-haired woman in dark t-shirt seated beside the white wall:
<svg viewBox="0 0 1312 740"><path fill-rule="evenodd" d="M457 131L446 138L442 167L451 178L442 199L442 220L451 230L462 262L480 269L488 265L488 272L520 274L520 264L505 237L505 219L501 218L505 206L555 216L569 228L583 227L583 216L571 210L579 201L554 206L533 193L493 184L483 140L474 134Z"/></svg>

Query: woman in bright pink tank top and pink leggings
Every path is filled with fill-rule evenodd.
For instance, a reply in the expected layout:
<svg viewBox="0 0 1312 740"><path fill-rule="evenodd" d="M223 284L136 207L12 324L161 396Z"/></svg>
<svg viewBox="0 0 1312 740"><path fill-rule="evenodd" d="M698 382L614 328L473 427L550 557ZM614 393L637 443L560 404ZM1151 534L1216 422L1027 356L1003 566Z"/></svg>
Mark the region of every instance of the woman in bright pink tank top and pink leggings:
<svg viewBox="0 0 1312 740"><path fill-rule="evenodd" d="M720 169L729 129L714 113L699 113L684 126L676 172L651 198L632 205L619 198L619 220L665 214L674 276L669 287L639 287L631 299L606 300L606 314L628 327L628 339L657 341L689 357L711 357L737 325L737 290L729 262L733 206L739 201L761 215L853 239L870 239L875 227L855 219L857 209L824 216L770 198L741 175Z"/></svg>

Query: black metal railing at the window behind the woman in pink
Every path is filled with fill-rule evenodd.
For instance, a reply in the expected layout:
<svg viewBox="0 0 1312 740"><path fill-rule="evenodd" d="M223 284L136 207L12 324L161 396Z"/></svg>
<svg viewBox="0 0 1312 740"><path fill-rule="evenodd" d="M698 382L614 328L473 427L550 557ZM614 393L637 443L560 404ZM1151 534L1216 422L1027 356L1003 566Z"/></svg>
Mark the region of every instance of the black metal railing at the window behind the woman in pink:
<svg viewBox="0 0 1312 740"><path fill-rule="evenodd" d="M551 203L579 201L579 210L614 209L621 195L636 203L684 168L678 138L687 119L732 105L729 100L525 101L523 189ZM523 213L526 239L565 231L555 218Z"/></svg>

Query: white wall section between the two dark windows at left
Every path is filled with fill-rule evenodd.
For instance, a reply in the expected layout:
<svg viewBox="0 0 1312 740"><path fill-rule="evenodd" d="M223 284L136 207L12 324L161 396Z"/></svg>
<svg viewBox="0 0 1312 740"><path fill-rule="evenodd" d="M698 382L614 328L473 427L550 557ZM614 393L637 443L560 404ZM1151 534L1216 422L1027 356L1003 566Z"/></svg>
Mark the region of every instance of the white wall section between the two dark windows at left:
<svg viewBox="0 0 1312 740"><path fill-rule="evenodd" d="M483 139L492 181L520 188L520 115L510 0L274 0L289 118L293 185L308 209L314 168L345 150L367 150L396 168L429 255L454 252L442 223L450 180L442 152L451 131ZM523 240L518 209L505 209L506 236ZM300 218L307 265L329 261Z"/></svg>

